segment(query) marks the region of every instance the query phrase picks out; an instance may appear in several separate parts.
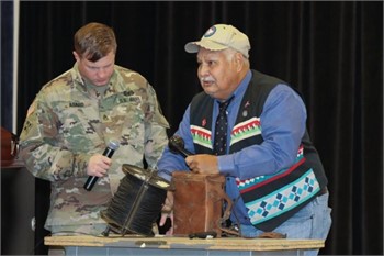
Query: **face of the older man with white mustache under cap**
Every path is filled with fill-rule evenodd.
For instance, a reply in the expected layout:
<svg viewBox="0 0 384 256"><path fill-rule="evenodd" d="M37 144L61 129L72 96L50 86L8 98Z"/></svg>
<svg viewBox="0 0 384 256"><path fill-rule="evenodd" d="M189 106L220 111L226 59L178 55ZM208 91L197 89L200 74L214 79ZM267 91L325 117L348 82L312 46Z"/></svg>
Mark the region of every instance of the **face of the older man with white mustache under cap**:
<svg viewBox="0 0 384 256"><path fill-rule="evenodd" d="M234 55L235 56L235 55ZM226 100L238 87L238 70L235 57L225 51L200 48L197 53L197 77L205 93L218 100Z"/></svg>

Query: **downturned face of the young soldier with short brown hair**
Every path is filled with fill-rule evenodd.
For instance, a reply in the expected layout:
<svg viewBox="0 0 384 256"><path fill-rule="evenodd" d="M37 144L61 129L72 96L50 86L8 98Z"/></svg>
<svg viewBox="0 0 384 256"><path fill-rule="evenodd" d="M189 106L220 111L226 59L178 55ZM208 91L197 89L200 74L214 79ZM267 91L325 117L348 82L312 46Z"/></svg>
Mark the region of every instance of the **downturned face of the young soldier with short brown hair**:
<svg viewBox="0 0 384 256"><path fill-rule="evenodd" d="M109 53L105 57L92 63L79 56L74 52L74 56L78 63L78 68L83 78L89 80L94 86L105 86L112 74L115 63L115 54Z"/></svg>

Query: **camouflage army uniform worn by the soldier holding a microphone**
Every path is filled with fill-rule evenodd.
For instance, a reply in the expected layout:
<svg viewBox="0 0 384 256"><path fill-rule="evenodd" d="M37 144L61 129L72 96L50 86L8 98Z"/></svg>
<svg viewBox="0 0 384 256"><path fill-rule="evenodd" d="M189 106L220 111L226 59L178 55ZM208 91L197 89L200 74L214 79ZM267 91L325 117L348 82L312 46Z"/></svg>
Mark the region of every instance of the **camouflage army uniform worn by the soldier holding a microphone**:
<svg viewBox="0 0 384 256"><path fill-rule="evenodd" d="M45 229L53 233L92 233L92 225L105 226L100 211L118 188L122 164L143 167L145 156L148 167L156 168L168 143L169 124L153 87L135 71L114 69L101 94L86 86L75 64L45 85L29 110L20 156L35 177L52 182ZM109 174L86 191L89 158L102 154L112 138L121 145Z"/></svg>

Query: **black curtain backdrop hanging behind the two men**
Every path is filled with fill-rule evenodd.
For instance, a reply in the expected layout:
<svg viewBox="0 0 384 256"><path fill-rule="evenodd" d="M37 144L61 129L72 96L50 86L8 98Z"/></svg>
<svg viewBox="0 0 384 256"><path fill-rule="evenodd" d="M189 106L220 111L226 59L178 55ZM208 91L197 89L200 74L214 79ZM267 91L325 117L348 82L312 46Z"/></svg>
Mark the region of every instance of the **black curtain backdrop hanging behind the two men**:
<svg viewBox="0 0 384 256"><path fill-rule="evenodd" d="M332 227L321 254L383 254L383 3L20 2L19 113L74 65L72 35L87 22L114 27L116 64L155 87L172 134L201 91L195 55L183 49L214 23L251 42L251 67L302 91L307 126L329 178ZM289 118L289 116L287 116ZM36 218L49 189L36 180ZM43 222L43 223L42 223ZM36 247L43 233L36 233Z"/></svg>

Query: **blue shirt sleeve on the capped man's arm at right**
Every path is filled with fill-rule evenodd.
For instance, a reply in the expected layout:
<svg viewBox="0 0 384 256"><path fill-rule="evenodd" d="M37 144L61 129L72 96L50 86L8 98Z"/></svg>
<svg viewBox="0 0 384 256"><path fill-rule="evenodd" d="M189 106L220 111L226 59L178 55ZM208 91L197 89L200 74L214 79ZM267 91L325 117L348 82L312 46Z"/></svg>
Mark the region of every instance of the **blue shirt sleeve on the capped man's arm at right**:
<svg viewBox="0 0 384 256"><path fill-rule="evenodd" d="M266 100L260 122L263 143L219 156L223 175L247 179L272 175L294 163L306 127L302 98L292 88L278 85Z"/></svg>

